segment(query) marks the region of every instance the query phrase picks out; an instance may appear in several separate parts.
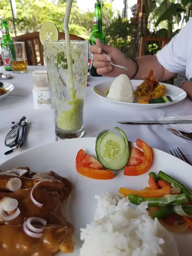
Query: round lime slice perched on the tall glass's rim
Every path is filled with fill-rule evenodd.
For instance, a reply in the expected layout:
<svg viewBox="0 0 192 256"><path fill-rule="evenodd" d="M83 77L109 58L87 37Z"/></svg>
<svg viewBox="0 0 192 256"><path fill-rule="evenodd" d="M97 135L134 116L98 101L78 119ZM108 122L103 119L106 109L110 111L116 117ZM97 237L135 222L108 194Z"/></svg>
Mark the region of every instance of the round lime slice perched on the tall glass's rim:
<svg viewBox="0 0 192 256"><path fill-rule="evenodd" d="M59 41L59 30L52 22L45 22L40 28L39 39L43 44L44 41Z"/></svg>

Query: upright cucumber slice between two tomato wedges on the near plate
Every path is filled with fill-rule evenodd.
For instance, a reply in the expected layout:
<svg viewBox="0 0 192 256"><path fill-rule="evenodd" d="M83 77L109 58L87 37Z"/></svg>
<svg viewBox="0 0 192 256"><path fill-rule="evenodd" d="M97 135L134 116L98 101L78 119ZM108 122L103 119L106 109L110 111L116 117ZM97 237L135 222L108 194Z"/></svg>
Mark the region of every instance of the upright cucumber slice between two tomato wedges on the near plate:
<svg viewBox="0 0 192 256"><path fill-rule="evenodd" d="M128 162L130 151L125 133L115 127L121 133L119 136L115 132L104 130L99 133L96 139L95 151L99 162L113 171L124 168Z"/></svg>

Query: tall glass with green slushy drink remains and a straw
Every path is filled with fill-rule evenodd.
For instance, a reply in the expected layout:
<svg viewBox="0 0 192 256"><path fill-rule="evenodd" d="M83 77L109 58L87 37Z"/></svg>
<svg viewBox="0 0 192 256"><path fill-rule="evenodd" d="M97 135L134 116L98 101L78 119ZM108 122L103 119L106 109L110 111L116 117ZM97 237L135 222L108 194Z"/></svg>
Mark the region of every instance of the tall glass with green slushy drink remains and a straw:
<svg viewBox="0 0 192 256"><path fill-rule="evenodd" d="M69 85L66 42L44 42L45 61L53 107L55 133L60 139L84 134L83 106L87 87L88 41L71 41L73 86Z"/></svg>

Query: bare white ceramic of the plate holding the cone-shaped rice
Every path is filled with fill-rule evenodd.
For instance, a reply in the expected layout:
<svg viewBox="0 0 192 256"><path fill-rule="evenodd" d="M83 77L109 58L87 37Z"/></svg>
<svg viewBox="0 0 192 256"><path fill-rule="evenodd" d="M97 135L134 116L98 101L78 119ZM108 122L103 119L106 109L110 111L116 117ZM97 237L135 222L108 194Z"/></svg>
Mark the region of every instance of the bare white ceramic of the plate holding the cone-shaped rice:
<svg viewBox="0 0 192 256"><path fill-rule="evenodd" d="M131 81L137 82L138 85L140 85L143 82L143 80L131 80ZM165 86L168 86L168 87L172 87L172 88L176 87L177 90L180 91L179 95L177 95L178 98L176 100L173 100L173 102L169 102L169 103L156 103L156 104L140 104L140 103L136 103L136 102L130 103L130 102L115 101L115 100L111 100L109 98L106 98L106 96L104 96L104 95L101 95L102 93L99 92L99 90L97 89L99 86L103 86L103 87L106 86L105 89L108 89L110 87L109 83L112 84L112 82L113 82L113 80L108 81L108 82L98 83L93 88L94 93L97 96L99 96L99 97L101 97L101 98L103 98L105 100L108 100L108 101L110 101L112 103L116 103L116 104L119 104L119 105L124 105L124 106L130 107L130 108L145 108L146 109L146 108L165 107L165 106L172 105L172 104L175 104L177 102L180 102L180 101L184 100L187 97L187 94L186 94L186 92L183 89L178 88L178 87L176 87L174 85L169 85L168 83L161 82L162 85L165 85ZM97 92L99 92L101 94L99 94Z"/></svg>

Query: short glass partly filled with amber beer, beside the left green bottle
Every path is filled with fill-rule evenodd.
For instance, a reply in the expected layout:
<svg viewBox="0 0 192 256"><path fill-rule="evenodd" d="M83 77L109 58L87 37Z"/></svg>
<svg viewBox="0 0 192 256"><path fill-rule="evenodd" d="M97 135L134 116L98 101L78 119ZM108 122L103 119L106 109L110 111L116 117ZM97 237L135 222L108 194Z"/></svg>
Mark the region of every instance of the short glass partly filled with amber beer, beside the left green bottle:
<svg viewBox="0 0 192 256"><path fill-rule="evenodd" d="M14 73L27 72L27 55L24 42L13 42L7 44L11 67Z"/></svg>

